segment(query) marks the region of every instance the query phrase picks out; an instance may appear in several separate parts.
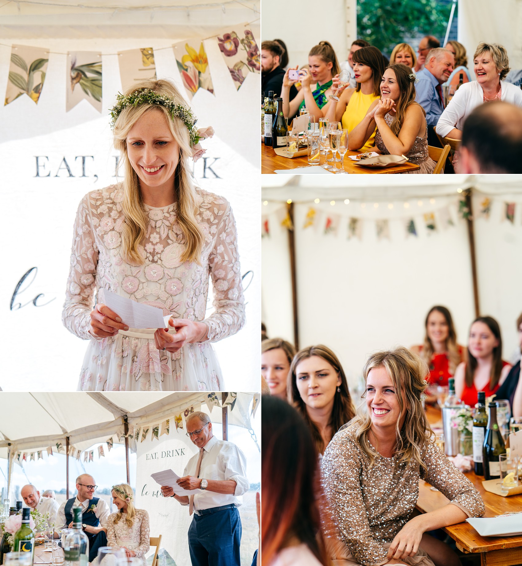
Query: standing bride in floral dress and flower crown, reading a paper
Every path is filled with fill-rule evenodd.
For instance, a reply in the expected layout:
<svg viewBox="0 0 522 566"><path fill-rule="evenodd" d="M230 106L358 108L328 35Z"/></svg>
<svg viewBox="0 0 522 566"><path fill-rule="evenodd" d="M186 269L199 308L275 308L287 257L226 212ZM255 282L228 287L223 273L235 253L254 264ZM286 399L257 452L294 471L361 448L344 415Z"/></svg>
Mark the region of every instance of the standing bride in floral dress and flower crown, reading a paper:
<svg viewBox="0 0 522 566"><path fill-rule="evenodd" d="M244 324L236 225L227 200L193 187L188 169L212 128L196 130L166 80L134 85L111 115L124 181L80 202L62 315L89 341L79 389L223 390L211 342ZM103 304L104 289L161 308L169 328L127 327Z"/></svg>

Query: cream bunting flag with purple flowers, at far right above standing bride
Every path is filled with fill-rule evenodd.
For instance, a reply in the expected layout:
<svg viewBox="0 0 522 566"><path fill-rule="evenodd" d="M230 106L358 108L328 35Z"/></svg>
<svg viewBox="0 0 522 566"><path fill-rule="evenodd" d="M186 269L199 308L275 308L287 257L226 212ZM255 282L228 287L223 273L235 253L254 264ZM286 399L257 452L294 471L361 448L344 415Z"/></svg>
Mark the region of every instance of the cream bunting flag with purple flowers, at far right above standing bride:
<svg viewBox="0 0 522 566"><path fill-rule="evenodd" d="M239 34L227 29L217 42L237 90L250 72L261 72L261 54L250 29L241 29Z"/></svg>

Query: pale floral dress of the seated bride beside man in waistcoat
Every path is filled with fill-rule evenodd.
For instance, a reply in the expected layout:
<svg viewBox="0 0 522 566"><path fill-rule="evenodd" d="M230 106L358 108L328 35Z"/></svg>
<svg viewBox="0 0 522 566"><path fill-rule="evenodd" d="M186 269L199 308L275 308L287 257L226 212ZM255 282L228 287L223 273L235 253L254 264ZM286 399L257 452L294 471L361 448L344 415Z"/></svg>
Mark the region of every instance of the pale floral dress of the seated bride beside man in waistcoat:
<svg viewBox="0 0 522 566"><path fill-rule="evenodd" d="M125 521L127 513L122 513L122 518L114 524L116 515L117 513L112 513L107 519L107 546L132 550L136 553L136 558L141 558L145 565L145 554L150 548L149 513L145 509L136 509L131 527L128 527Z"/></svg>

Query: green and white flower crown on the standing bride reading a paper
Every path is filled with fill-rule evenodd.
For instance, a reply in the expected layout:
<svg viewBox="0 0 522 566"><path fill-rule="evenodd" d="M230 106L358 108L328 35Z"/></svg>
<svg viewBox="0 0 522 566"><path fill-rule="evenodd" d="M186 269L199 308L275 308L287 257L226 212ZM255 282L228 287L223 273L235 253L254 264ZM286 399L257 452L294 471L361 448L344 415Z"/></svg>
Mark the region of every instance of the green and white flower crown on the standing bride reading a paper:
<svg viewBox="0 0 522 566"><path fill-rule="evenodd" d="M122 110L127 108L127 106L137 106L139 104L157 104L164 106L167 110L169 110L172 119L174 119L175 116L181 118L184 125L187 127L188 137L192 147L192 158L194 161L205 153L205 149L201 148L199 141L204 138L212 138L214 135L212 127L200 128L197 130L197 118L195 118L191 109L187 108L187 106L175 102L172 98L169 98L166 95L159 95L150 88L138 89L129 96L124 96L121 93L118 93L116 100L116 104L110 111L111 130L114 130L118 116L122 113Z"/></svg>

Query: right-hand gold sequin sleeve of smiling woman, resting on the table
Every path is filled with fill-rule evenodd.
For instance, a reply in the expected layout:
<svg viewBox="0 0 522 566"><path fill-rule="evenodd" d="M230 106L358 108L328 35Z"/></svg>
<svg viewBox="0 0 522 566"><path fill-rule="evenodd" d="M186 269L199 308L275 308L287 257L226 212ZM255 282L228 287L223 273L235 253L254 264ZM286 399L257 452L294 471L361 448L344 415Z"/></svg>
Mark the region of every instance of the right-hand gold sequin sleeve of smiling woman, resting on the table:
<svg viewBox="0 0 522 566"><path fill-rule="evenodd" d="M484 501L480 493L460 470L434 444L428 444L422 461L428 470L421 468L424 481L436 487L450 503L456 505L468 517L482 517L485 512Z"/></svg>

